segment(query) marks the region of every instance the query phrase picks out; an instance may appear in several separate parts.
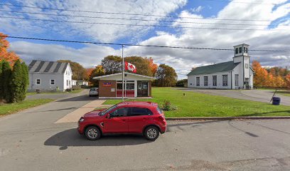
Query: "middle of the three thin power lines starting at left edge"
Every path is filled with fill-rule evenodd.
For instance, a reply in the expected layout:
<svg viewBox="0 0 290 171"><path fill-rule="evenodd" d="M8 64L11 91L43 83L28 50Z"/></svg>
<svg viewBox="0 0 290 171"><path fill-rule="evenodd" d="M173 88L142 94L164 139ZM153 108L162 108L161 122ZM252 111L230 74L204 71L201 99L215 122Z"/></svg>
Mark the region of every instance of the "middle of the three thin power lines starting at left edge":
<svg viewBox="0 0 290 171"><path fill-rule="evenodd" d="M90 18L90 19L117 19L117 20L127 20L127 21L158 21L164 23L180 23L180 24L213 24L213 25L231 25L231 26L276 26L276 24L227 24L227 23L207 23L207 22L190 22L190 21L165 21L158 19L127 19L127 18L117 18L117 17L104 17L104 16L80 16L80 15L66 15L66 14L45 14L37 12L27 12L27 11L9 11L0 10L4 12L18 13L18 14L37 14L45 16L68 16L68 17L80 17L80 18Z"/></svg>

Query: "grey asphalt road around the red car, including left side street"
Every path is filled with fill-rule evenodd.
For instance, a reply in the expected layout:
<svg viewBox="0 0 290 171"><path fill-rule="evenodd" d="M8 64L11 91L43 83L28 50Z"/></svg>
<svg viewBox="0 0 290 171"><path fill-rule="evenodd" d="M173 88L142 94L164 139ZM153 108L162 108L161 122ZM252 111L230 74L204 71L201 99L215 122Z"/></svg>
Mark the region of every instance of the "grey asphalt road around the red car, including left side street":
<svg viewBox="0 0 290 171"><path fill-rule="evenodd" d="M86 140L55 121L85 96L0 118L0 170L290 170L290 120L168 121L155 142L141 136Z"/></svg>

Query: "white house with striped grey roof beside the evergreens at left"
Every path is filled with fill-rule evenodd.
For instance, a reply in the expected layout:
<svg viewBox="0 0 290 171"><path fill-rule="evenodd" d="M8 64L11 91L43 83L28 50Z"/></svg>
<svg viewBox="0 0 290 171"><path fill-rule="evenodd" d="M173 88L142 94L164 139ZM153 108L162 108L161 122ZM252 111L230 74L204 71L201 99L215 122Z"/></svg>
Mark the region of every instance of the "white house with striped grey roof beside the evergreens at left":
<svg viewBox="0 0 290 171"><path fill-rule="evenodd" d="M28 66L28 73L28 91L65 91L72 88L70 63L33 60Z"/></svg>

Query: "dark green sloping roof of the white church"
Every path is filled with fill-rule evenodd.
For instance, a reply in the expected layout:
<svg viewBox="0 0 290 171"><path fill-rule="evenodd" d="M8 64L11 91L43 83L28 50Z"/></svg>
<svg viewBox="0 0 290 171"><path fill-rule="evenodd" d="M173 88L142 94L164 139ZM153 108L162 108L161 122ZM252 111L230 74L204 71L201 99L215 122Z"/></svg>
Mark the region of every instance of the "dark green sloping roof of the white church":
<svg viewBox="0 0 290 171"><path fill-rule="evenodd" d="M188 73L188 76L232 71L237 65L239 65L239 63L228 61L224 63L216 63L210 66L200 66L194 68L190 73Z"/></svg>

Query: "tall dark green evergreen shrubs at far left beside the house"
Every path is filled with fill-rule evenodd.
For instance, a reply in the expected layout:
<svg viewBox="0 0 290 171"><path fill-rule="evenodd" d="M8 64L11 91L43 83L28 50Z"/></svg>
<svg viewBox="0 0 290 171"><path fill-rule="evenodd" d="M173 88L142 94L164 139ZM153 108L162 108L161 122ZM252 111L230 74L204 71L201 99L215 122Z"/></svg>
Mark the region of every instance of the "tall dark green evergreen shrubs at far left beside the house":
<svg viewBox="0 0 290 171"><path fill-rule="evenodd" d="M1 103L21 102L26 98L28 88L28 67L18 59L11 63L0 61L0 101Z"/></svg>

